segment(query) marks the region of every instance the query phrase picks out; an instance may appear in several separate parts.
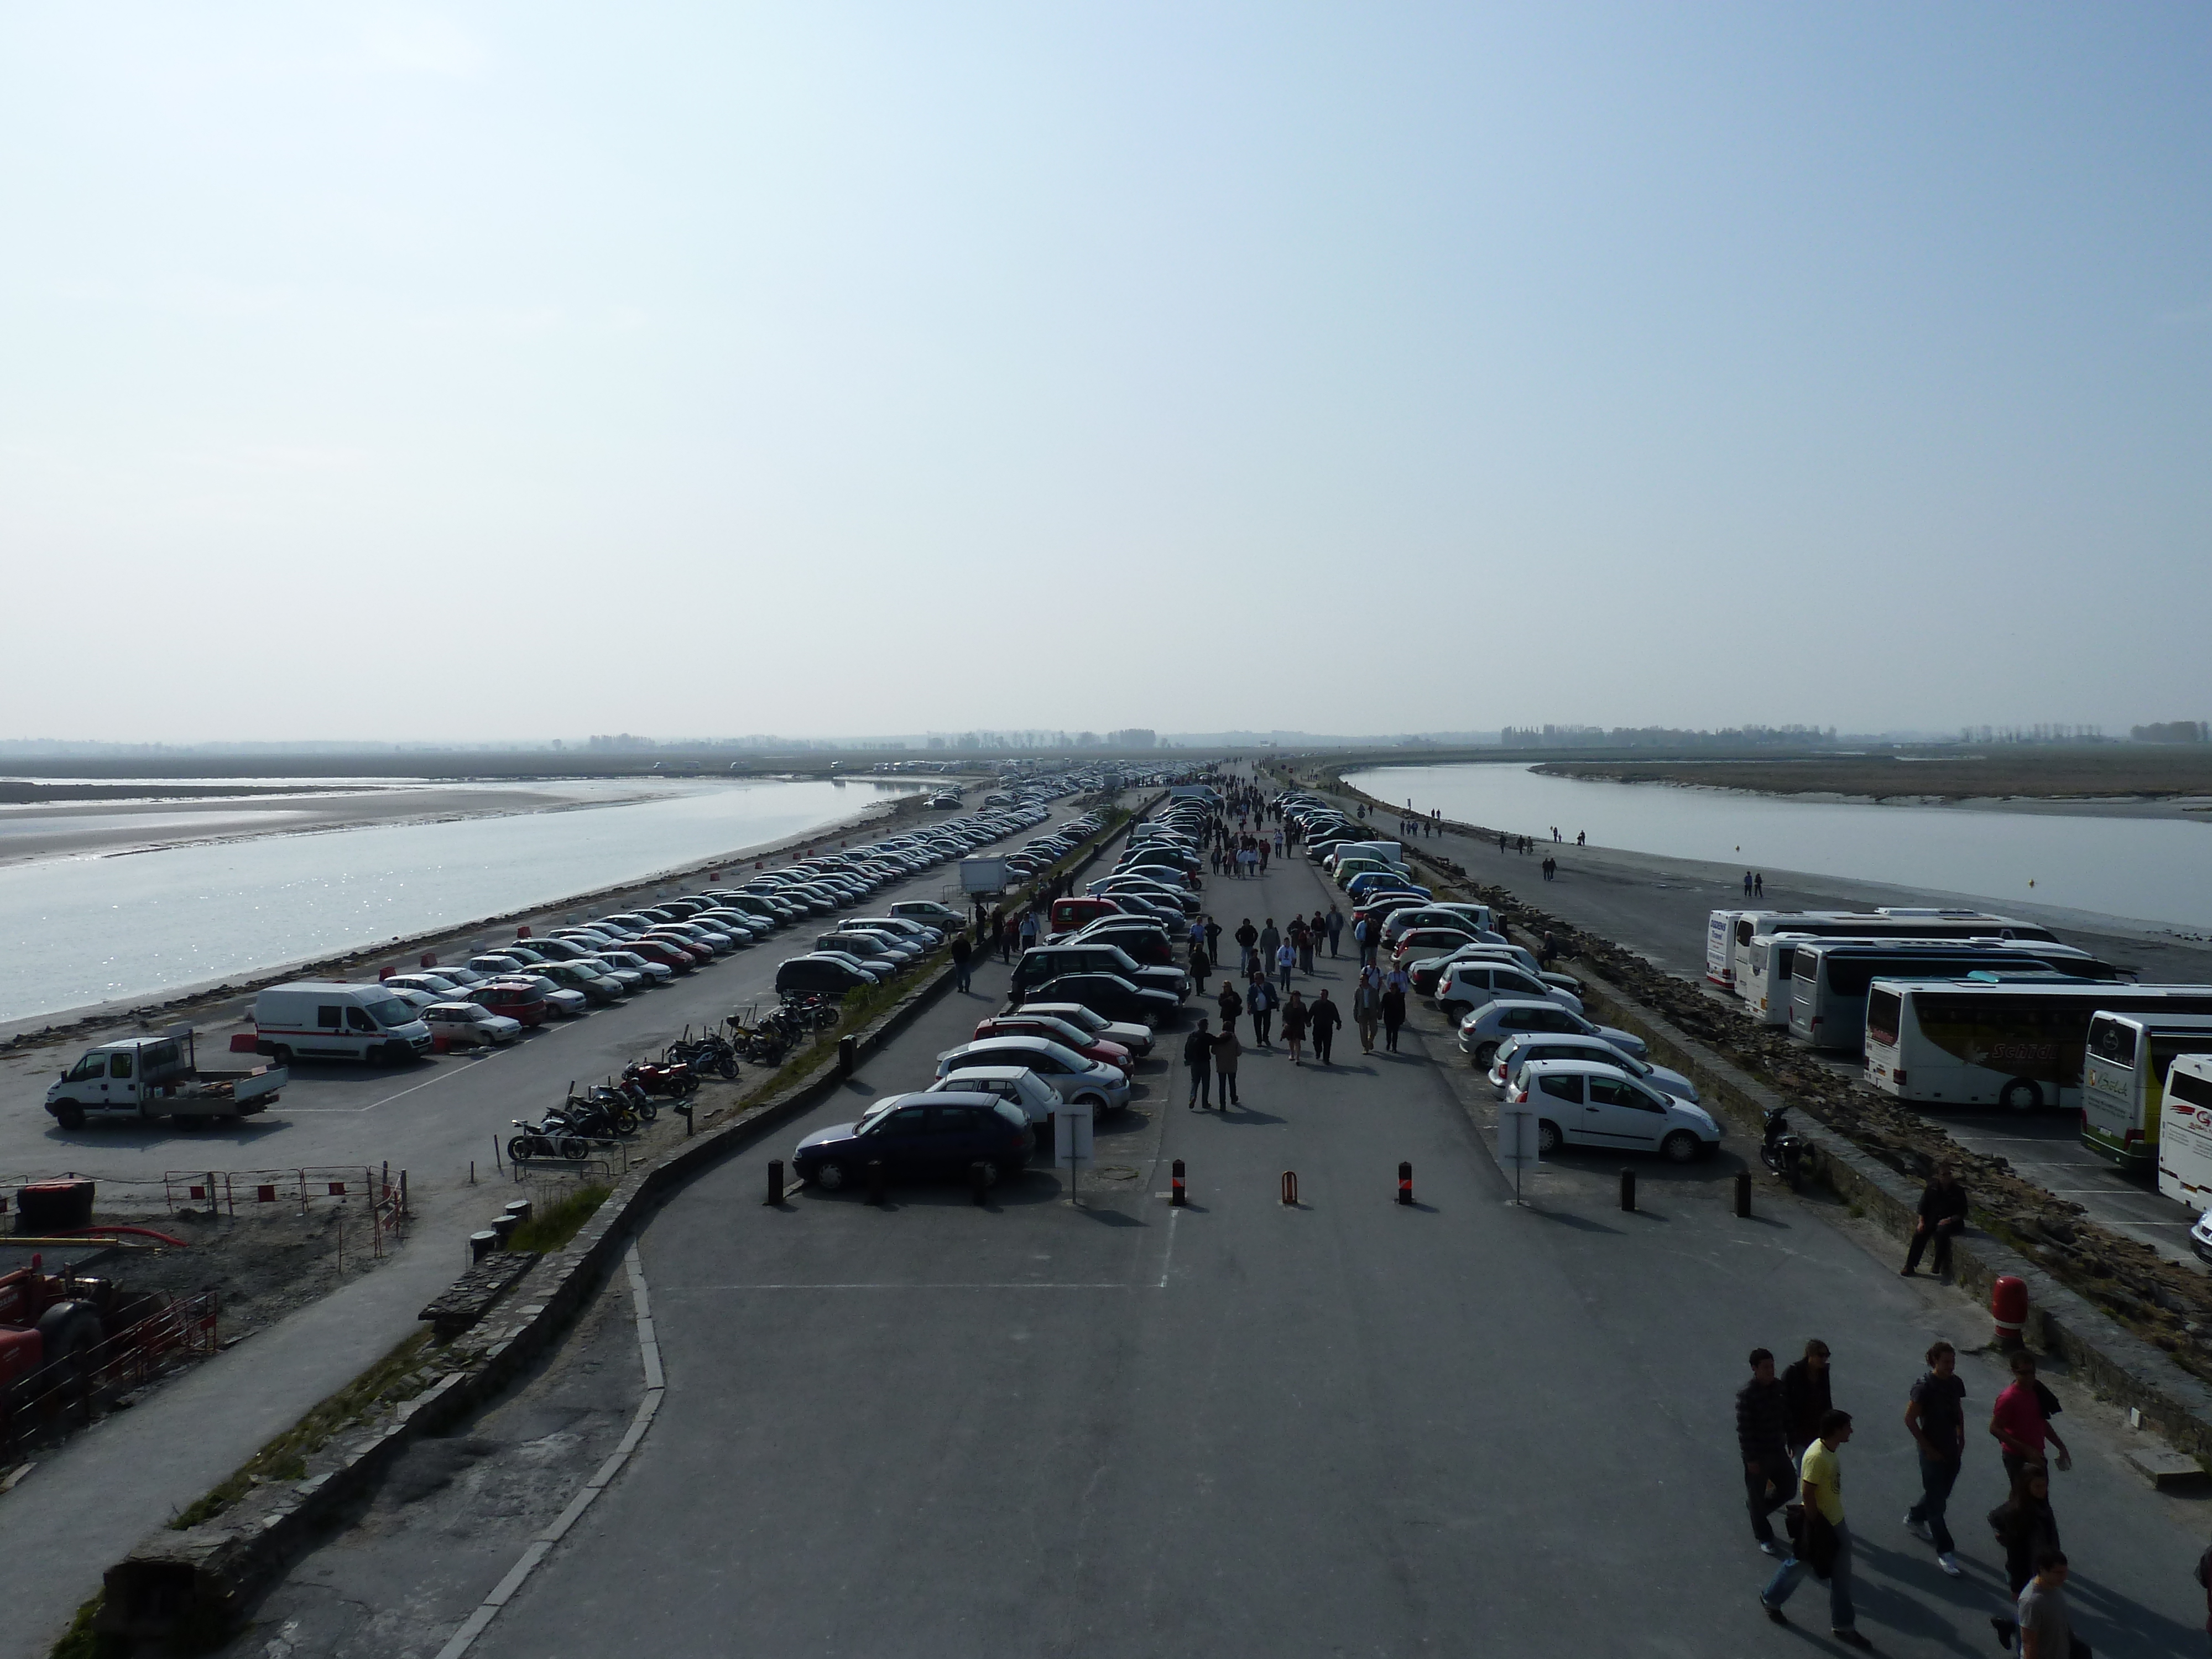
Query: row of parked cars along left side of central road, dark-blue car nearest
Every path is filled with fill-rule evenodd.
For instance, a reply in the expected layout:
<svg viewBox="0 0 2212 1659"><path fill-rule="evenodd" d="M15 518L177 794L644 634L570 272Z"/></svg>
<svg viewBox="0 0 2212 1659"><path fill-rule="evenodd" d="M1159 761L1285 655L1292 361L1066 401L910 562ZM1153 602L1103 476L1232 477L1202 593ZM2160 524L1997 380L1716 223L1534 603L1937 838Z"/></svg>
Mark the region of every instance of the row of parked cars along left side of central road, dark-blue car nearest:
<svg viewBox="0 0 2212 1659"><path fill-rule="evenodd" d="M1006 1181L1029 1166L1064 1104L1093 1115L1128 1106L1155 1026L1190 993L1175 945L1197 914L1203 812L1170 801L1135 825L1113 874L1082 898L1055 900L1055 931L1022 953L1009 1006L940 1053L927 1088L887 1095L858 1119L807 1135L792 1152L794 1175L830 1192L860 1181L869 1164L887 1179L964 1177L982 1166L987 1179Z"/></svg>

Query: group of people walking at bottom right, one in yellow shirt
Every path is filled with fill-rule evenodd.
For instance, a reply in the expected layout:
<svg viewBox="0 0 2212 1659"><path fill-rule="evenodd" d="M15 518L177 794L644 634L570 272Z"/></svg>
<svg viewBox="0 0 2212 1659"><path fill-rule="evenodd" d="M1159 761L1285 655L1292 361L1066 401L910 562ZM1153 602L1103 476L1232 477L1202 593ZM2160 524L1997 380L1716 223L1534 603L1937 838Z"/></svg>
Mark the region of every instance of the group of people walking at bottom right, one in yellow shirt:
<svg viewBox="0 0 2212 1659"><path fill-rule="evenodd" d="M1840 1453L1851 1440L1851 1413L1836 1409L1827 1343L1805 1343L1805 1354L1781 1376L1774 1354L1763 1347L1752 1349L1750 1365L1752 1378L1736 1391L1736 1453L1752 1537L1763 1553L1781 1557L1759 1606L1774 1624L1787 1624L1783 1604L1812 1573L1827 1582L1834 1637L1867 1648L1851 1606L1851 1526L1843 1504ZM1989 1416L2008 1486L1989 1513L2008 1588L1991 1628L2002 1648L2017 1644L2024 1659L2086 1659L2088 1644L2073 1635L2066 1613L2066 1553L2051 1511L2051 1471L2073 1467L2066 1442L2051 1427L2062 1407L2037 1380L2033 1354L2022 1349L2011 1365L2013 1380ZM1947 1575L1962 1577L1947 1509L1966 1460L1966 1383L1951 1343L1929 1347L1927 1369L1907 1389L1905 1431L1920 1455L1920 1500L1905 1513L1905 1528L1936 1551ZM1787 1548L1774 1535L1778 1509L1790 1522Z"/></svg>

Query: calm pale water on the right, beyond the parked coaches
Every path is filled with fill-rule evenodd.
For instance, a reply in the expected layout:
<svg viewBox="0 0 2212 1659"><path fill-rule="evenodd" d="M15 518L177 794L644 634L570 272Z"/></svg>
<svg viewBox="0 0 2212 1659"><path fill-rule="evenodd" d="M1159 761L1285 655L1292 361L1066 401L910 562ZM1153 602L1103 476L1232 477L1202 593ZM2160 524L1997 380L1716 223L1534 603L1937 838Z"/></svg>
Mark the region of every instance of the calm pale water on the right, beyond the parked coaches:
<svg viewBox="0 0 2212 1659"><path fill-rule="evenodd" d="M2004 905L2064 905L2212 927L2212 825L1969 807L1876 807L1657 783L1548 779L1522 763L1387 765L1349 774L1383 801L1595 847L1745 869L1896 883ZM2033 883L2033 887L2031 887Z"/></svg>

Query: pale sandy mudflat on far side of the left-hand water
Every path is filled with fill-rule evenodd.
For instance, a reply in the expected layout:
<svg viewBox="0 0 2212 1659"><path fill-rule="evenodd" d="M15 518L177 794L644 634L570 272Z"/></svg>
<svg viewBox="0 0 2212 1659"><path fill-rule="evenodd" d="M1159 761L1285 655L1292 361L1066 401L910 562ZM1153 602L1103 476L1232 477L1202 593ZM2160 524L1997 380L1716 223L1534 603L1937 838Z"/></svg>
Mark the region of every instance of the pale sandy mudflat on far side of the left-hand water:
<svg viewBox="0 0 2212 1659"><path fill-rule="evenodd" d="M436 823L509 812L650 801L666 785L611 783L394 783L352 790L195 794L188 799L58 801L0 807L0 865L82 854L150 852L208 841Z"/></svg>

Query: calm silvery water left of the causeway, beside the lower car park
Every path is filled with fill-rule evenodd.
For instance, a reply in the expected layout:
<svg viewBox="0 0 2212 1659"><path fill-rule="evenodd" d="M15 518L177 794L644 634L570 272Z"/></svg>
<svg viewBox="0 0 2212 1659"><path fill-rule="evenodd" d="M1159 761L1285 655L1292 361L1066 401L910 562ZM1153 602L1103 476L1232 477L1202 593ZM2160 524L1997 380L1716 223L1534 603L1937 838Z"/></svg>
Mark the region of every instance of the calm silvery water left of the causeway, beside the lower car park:
<svg viewBox="0 0 2212 1659"><path fill-rule="evenodd" d="M0 867L0 938L9 942L0 1020L248 978L639 880L832 823L891 785L666 787L666 799L622 805Z"/></svg>

